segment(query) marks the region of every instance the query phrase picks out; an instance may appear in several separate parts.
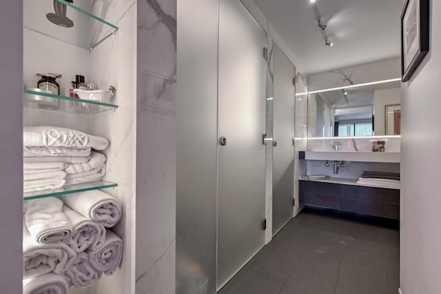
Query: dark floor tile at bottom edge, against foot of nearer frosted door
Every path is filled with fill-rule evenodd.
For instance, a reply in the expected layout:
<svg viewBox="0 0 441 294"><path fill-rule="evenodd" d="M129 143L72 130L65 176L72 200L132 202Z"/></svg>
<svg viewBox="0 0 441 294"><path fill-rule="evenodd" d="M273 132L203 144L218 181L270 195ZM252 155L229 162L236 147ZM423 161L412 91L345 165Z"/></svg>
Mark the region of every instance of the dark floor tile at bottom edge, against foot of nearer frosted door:
<svg viewBox="0 0 441 294"><path fill-rule="evenodd" d="M273 282L249 271L240 271L219 294L276 294L280 293L283 284Z"/></svg>

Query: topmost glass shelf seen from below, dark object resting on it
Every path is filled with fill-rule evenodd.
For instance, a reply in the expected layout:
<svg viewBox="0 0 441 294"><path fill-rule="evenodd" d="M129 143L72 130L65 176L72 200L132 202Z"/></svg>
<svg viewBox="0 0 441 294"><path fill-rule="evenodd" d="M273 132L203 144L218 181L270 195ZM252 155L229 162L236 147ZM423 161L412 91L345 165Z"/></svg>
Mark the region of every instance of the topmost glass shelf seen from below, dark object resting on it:
<svg viewBox="0 0 441 294"><path fill-rule="evenodd" d="M117 26L103 19L107 14L108 6L104 7L102 4L100 6L101 2L74 0L74 3L70 3L65 0L57 0L57 2L53 0L25 0L23 3L23 26L28 30L59 41L92 50L118 30ZM50 18L57 22L65 19L65 17L60 17L61 14L54 13L56 5L59 6L57 10L61 14L65 8L65 17L70 20L66 23L70 22L70 25L73 23L72 27L68 28L66 24L57 25L49 21Z"/></svg>

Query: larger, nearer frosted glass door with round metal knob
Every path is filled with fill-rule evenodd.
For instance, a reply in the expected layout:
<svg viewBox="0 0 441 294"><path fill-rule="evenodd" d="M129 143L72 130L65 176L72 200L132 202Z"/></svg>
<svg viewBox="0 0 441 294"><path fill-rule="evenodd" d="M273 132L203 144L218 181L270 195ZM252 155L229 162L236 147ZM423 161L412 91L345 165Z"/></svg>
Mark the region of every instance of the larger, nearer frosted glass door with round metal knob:
<svg viewBox="0 0 441 294"><path fill-rule="evenodd" d="M266 44L238 0L219 1L218 288L265 242Z"/></svg>

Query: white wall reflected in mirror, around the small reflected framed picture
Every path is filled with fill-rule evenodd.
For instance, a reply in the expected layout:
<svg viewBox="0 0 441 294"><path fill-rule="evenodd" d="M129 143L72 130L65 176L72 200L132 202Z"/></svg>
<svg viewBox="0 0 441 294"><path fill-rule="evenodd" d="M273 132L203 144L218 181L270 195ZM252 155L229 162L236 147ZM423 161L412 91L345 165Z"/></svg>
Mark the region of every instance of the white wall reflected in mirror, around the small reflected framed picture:
<svg viewBox="0 0 441 294"><path fill-rule="evenodd" d="M386 135L385 106L401 103L400 88L376 90L373 94L373 115L375 115L375 135ZM393 135L393 134L389 134Z"/></svg>

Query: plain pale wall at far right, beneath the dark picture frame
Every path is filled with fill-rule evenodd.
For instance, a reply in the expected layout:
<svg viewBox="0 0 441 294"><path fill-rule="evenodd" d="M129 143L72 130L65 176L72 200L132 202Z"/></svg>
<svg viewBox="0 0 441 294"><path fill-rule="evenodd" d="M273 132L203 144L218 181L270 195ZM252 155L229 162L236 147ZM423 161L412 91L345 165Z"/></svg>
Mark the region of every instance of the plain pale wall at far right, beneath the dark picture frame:
<svg viewBox="0 0 441 294"><path fill-rule="evenodd" d="M400 287L441 293L441 1L431 1L431 48L402 84Z"/></svg>

